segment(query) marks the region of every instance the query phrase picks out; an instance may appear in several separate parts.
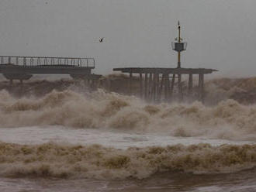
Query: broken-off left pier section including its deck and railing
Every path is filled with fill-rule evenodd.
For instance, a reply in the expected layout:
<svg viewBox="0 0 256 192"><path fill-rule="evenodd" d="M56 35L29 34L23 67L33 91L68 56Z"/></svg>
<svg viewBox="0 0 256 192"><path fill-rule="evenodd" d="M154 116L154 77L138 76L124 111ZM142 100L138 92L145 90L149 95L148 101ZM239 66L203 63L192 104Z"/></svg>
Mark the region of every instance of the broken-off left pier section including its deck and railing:
<svg viewBox="0 0 256 192"><path fill-rule="evenodd" d="M94 68L94 58L0 56L0 74L11 84L13 80L28 80L33 74L69 74L93 81L100 77L92 74Z"/></svg>

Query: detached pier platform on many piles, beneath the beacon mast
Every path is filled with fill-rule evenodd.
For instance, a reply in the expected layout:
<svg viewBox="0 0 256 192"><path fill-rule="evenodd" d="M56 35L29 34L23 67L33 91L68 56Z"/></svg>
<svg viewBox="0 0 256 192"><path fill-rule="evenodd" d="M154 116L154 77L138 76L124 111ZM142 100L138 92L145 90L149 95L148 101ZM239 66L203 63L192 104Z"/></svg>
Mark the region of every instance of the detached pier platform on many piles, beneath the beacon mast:
<svg viewBox="0 0 256 192"><path fill-rule="evenodd" d="M198 76L197 97L199 101L204 101L204 75L212 74L213 69L204 68L114 68L114 71L130 74L129 91L132 91L133 74L140 78L140 98L146 101L172 101L175 96L178 101L183 101L184 95L194 93L193 76ZM189 76L187 86L183 86L182 76ZM177 82L176 82L177 81ZM176 88L176 93L175 93ZM186 89L185 89L186 88ZM176 94L176 95L174 95Z"/></svg>

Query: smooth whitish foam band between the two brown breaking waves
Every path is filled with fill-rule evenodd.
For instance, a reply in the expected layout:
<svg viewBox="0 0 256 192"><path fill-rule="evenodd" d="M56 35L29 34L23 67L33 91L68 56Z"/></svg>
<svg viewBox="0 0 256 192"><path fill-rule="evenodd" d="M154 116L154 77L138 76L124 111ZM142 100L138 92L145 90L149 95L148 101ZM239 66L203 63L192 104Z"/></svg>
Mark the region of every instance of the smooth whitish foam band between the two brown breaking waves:
<svg viewBox="0 0 256 192"><path fill-rule="evenodd" d="M115 129L71 129L62 126L22 127L0 129L0 141L17 144L42 144L46 142L72 143L81 145L99 144L102 146L127 149L129 147L186 146L209 143L212 146L223 144L254 144L253 141L232 141L225 139L207 139L204 137L174 137L157 133L120 132Z"/></svg>

